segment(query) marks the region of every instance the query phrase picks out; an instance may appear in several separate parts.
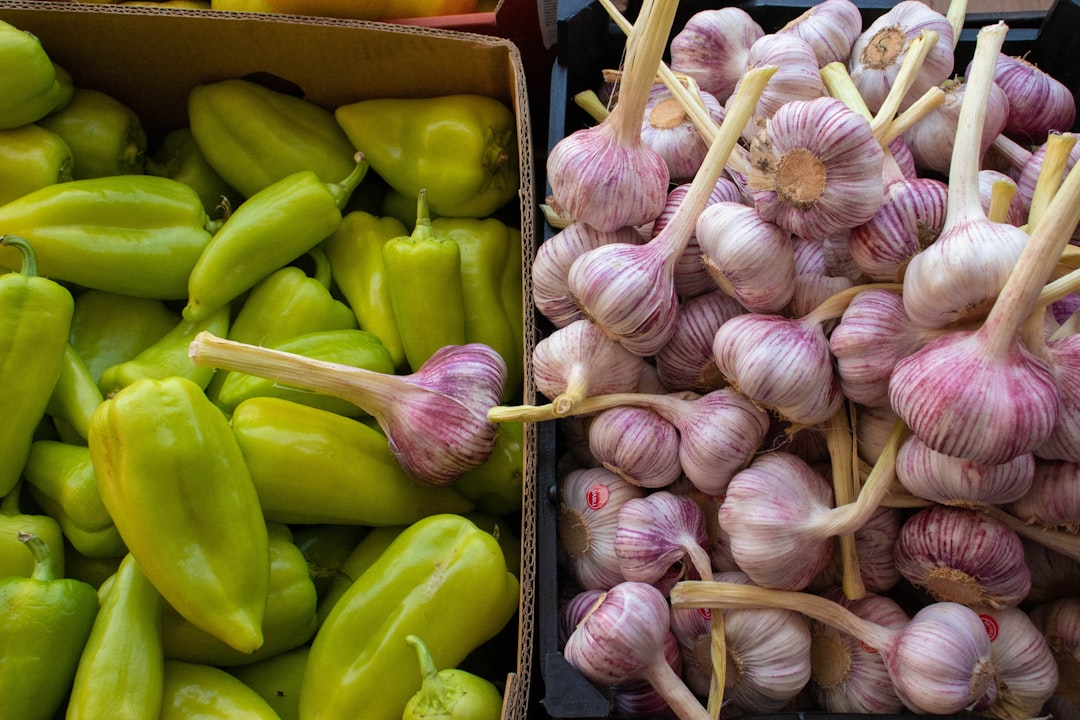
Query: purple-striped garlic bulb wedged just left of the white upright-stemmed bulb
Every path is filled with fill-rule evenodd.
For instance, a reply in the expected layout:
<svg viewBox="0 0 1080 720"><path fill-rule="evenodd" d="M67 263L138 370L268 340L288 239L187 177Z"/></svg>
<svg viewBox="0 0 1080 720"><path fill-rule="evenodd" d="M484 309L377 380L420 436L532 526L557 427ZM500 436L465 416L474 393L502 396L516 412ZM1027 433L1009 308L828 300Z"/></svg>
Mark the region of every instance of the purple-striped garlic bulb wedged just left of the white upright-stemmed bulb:
<svg viewBox="0 0 1080 720"><path fill-rule="evenodd" d="M945 225L948 186L933 178L897 180L881 207L848 234L848 252L866 276L903 281L907 263L930 246Z"/></svg>

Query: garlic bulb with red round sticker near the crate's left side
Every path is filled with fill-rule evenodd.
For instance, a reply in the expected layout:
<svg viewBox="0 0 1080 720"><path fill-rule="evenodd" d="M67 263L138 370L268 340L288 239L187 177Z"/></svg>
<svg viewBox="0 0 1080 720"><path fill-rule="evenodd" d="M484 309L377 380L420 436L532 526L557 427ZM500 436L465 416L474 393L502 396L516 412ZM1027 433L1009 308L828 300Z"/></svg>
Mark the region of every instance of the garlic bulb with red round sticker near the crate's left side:
<svg viewBox="0 0 1080 720"><path fill-rule="evenodd" d="M570 471L558 481L558 553L582 589L606 590L624 580L615 554L619 510L645 490L603 467Z"/></svg>

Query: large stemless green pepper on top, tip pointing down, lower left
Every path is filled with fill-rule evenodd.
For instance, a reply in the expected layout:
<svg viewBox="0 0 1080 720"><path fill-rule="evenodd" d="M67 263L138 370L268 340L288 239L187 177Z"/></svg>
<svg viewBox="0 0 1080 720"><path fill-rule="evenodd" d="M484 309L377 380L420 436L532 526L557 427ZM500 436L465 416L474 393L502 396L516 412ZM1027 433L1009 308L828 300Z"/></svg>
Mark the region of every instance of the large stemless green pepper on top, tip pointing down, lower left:
<svg viewBox="0 0 1080 720"><path fill-rule="evenodd" d="M90 451L105 507L165 601L237 650L257 650L267 527L221 411L186 378L136 380L94 413Z"/></svg>

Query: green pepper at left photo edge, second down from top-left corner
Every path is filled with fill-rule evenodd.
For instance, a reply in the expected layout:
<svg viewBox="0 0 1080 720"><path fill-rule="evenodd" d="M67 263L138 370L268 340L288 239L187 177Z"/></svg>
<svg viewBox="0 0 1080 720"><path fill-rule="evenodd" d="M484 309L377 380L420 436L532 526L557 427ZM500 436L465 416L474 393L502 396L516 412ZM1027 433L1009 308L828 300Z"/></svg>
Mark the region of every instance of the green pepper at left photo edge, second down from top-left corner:
<svg viewBox="0 0 1080 720"><path fill-rule="evenodd" d="M71 179L71 148L33 123L0 130L0 205Z"/></svg>

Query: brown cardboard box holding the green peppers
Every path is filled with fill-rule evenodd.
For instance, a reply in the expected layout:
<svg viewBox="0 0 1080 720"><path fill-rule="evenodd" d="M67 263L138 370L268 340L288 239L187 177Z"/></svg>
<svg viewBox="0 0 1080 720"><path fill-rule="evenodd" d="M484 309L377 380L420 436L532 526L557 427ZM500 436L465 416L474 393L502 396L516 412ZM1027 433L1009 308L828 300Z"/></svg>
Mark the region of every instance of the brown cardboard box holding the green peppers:
<svg viewBox="0 0 1080 720"><path fill-rule="evenodd" d="M532 140L517 47L505 39L403 25L66 2L2 2L0 19L37 35L77 85L108 93L141 119L153 142L187 124L188 91L227 78L270 77L333 109L374 97L480 93L517 118L518 219L531 266L536 244ZM528 296L529 298L531 296ZM535 325L526 313L526 357ZM526 402L535 402L531 371ZM532 657L536 433L526 433L522 598L516 667L508 668L504 720L525 717Z"/></svg>

